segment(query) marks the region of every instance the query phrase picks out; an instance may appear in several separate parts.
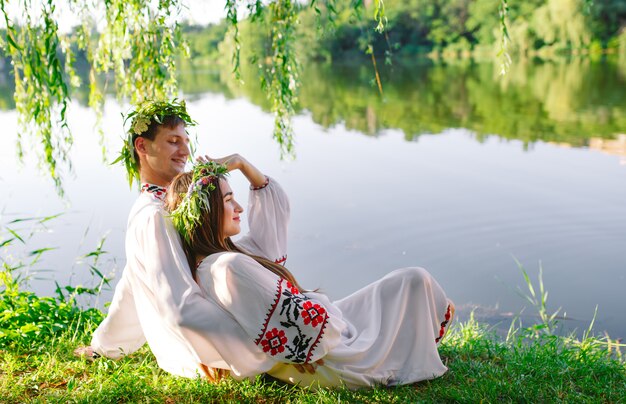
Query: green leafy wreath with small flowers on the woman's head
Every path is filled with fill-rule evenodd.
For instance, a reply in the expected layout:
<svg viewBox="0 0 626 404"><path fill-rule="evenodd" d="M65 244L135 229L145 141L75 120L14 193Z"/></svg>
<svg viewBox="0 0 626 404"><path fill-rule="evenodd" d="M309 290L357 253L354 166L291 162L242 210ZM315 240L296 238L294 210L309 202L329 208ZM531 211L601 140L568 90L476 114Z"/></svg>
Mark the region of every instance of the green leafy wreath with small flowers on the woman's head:
<svg viewBox="0 0 626 404"><path fill-rule="evenodd" d="M198 225L202 211L210 211L209 195L219 187L219 179L228 174L224 164L214 161L197 163L193 167L191 184L178 207L170 214L174 227L187 242Z"/></svg>

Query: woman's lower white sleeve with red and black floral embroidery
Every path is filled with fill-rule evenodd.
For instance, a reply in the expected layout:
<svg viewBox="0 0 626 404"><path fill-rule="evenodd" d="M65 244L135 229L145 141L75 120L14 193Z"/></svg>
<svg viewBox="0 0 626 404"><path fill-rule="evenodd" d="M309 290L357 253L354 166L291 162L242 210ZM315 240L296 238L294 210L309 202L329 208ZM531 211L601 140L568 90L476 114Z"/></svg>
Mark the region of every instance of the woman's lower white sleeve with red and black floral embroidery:
<svg viewBox="0 0 626 404"><path fill-rule="evenodd" d="M343 322L328 299L300 293L244 254L212 257L198 267L198 277L273 361L315 362L340 341Z"/></svg>

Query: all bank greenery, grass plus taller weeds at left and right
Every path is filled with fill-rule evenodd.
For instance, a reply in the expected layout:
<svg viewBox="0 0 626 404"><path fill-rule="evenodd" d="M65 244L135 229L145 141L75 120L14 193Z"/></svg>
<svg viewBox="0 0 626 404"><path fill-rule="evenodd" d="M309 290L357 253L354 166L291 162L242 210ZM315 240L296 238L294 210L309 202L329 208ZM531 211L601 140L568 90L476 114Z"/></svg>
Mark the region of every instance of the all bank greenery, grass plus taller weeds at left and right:
<svg viewBox="0 0 626 404"><path fill-rule="evenodd" d="M11 223L16 223L13 221ZM449 371L442 377L397 388L350 391L289 386L269 378L217 384L171 376L162 371L150 350L142 348L119 361L87 362L73 356L87 345L102 320L97 309L81 309L77 300L97 295L108 280L96 269L101 241L84 255L97 286L60 287L56 297L25 290L27 276L41 253L24 263L6 247L25 243L16 231L0 240L0 403L22 402L575 402L626 403L626 362L619 344L608 337L559 336L555 314L546 309L541 271L525 296L541 323L522 326L514 320L506 337L471 317L455 324L440 352ZM19 236L19 237L18 237ZM32 257L35 259L32 259Z"/></svg>

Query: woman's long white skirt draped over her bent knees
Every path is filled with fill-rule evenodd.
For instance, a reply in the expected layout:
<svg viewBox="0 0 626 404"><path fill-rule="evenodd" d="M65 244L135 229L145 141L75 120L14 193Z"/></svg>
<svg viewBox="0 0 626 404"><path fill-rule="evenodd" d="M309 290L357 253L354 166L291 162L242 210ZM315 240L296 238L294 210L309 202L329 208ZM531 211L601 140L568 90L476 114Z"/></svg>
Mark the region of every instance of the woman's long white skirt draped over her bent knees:
<svg viewBox="0 0 626 404"><path fill-rule="evenodd" d="M437 345L451 308L425 269L398 269L333 305L347 327L324 365L312 375L281 363L268 372L271 376L303 386L359 388L409 384L447 371Z"/></svg>

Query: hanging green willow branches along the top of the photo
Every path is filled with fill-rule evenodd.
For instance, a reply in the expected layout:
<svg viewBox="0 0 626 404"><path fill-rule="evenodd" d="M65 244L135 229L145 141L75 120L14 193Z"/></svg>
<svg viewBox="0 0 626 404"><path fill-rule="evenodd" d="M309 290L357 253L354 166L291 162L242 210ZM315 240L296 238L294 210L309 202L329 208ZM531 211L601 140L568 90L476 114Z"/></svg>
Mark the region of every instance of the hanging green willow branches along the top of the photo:
<svg viewBox="0 0 626 404"><path fill-rule="evenodd" d="M467 8L468 1L438 0L437 15L458 13ZM508 0L494 1L506 5ZM310 0L307 6L295 0L245 3L225 0L226 27L232 38L232 63L237 78L240 79L243 45L239 35L242 4L247 8L247 20L251 24L270 27L267 55L255 54L251 60L261 67L261 84L275 114L274 136L286 154L293 153L291 116L295 111L299 85L296 47L299 11L308 7L317 14L318 26L326 25L332 29L339 16L339 2ZM429 18L430 9L424 9L422 15L418 4L421 2L428 3L426 0L410 1L414 7L413 15ZM371 3L369 8L362 0L344 0L342 10L349 10L350 21L361 21L357 24L358 29L366 32L368 38L374 30L382 32L381 37L390 51L385 3L383 0L368 3ZM61 11L57 7L62 6L68 8L63 10L65 16L72 15L80 21L70 33L59 30ZM492 12L497 13L496 9L497 4ZM40 161L62 194L64 169L71 170L68 153L73 142L67 112L73 93L83 81L75 71L77 52L83 53L89 64L89 105L99 119L105 91L114 91L120 101L133 104L146 98L179 95L177 60L189 57L189 47L180 26L183 10L183 0L16 0L11 5L8 0L0 0L5 29L0 48L11 59L15 78L15 103L21 127L17 145L19 158L24 153L22 133L33 134L39 141L35 143L41 144L37 150ZM374 20L369 20L365 28L361 18L364 11ZM398 15L392 17L400 18ZM459 21L463 22L464 18ZM504 15L501 21L504 27ZM432 30L432 40L441 41L450 35L453 28L449 26L458 23L456 19L442 20L438 30ZM368 49L373 50L373 47ZM375 63L373 57L372 60ZM382 90L380 82L379 88Z"/></svg>

